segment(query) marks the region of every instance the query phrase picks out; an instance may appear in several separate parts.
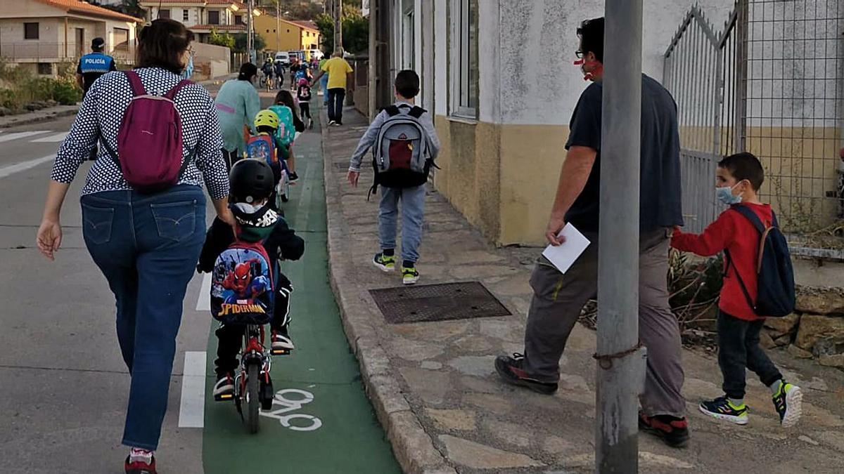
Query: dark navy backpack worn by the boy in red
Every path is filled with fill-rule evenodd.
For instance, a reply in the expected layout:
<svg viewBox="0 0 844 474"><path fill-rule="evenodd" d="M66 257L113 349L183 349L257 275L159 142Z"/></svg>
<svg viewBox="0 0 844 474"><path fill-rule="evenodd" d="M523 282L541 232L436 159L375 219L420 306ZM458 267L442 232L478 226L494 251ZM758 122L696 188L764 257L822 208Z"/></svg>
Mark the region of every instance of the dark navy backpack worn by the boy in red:
<svg viewBox="0 0 844 474"><path fill-rule="evenodd" d="M724 250L727 255L727 265L728 267L733 265L733 271L738 277L738 284L741 286L744 298L747 299L747 304L756 315L773 317L790 315L794 311L795 304L794 270L788 244L776 222L776 215L771 214L772 225L766 227L749 207L738 204L734 205L733 209L747 218L760 234L759 257L756 261L755 302L750 298L729 250Z"/></svg>

